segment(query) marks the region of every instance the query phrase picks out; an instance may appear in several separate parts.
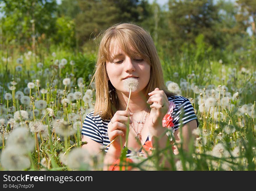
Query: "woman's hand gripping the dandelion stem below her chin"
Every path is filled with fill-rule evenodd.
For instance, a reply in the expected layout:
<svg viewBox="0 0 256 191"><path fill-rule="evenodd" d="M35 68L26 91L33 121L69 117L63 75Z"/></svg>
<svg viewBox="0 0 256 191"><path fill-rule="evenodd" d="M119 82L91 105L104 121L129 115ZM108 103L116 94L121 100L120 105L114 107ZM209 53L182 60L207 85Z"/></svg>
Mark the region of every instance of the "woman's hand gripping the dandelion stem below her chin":
<svg viewBox="0 0 256 191"><path fill-rule="evenodd" d="M112 117L111 121L108 124L108 135L109 141L112 141L117 136L121 136L122 143L120 144L120 138L117 137L115 141L110 145L110 147L114 147L116 150L122 150L126 142L126 129L127 125L131 124L132 121L130 119L132 113L129 111L117 111ZM122 148L120 147L122 146Z"/></svg>

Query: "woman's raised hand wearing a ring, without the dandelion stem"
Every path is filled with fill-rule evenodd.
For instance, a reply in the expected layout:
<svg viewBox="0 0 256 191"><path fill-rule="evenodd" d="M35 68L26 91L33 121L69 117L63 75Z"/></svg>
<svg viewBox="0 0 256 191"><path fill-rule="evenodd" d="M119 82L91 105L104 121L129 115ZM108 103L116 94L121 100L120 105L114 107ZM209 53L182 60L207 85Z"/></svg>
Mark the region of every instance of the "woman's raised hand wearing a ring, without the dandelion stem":
<svg viewBox="0 0 256 191"><path fill-rule="evenodd" d="M154 91L148 94L150 97L147 100L150 105L150 120L152 121L153 127L162 126L162 120L165 114L169 109L170 102L163 90L159 90L159 88L155 88Z"/></svg>

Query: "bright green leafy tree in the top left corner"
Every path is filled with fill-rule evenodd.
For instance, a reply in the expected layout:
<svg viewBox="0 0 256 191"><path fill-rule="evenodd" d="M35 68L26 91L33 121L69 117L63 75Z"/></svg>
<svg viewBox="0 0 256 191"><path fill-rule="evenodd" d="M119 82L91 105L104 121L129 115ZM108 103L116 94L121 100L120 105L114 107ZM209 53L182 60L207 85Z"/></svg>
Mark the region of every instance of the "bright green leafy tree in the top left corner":
<svg viewBox="0 0 256 191"><path fill-rule="evenodd" d="M3 42L17 43L20 50L35 46L36 38L55 31L56 0L3 0Z"/></svg>

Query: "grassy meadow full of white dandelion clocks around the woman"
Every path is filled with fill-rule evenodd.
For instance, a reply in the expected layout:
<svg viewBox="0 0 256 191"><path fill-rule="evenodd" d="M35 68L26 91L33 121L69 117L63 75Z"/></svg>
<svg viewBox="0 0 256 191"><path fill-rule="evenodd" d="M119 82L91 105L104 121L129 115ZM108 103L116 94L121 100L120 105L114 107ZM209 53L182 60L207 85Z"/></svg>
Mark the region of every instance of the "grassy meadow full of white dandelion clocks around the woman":
<svg viewBox="0 0 256 191"><path fill-rule="evenodd" d="M58 47L40 57L31 51L7 52L1 52L0 61L0 169L102 170L104 153L91 156L81 148L86 144L81 142L83 120L94 108L95 89L88 85L96 53ZM168 170L256 170L253 50L244 57L230 55L226 63L189 51L170 57L159 50L159 57L168 90L195 108L197 138L189 152L174 155L167 154L169 147L154 148L150 157L136 155L123 165L163 170L162 153Z"/></svg>

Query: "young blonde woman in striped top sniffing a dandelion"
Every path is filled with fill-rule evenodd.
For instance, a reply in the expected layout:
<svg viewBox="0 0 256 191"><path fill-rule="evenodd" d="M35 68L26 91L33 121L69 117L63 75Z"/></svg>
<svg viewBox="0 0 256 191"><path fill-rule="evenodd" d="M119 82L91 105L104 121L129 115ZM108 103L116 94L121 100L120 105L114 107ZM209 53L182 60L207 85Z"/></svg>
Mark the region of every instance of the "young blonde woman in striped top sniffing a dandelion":
<svg viewBox="0 0 256 191"><path fill-rule="evenodd" d="M127 78L138 82L130 99L125 87ZM163 118L170 111L170 104L174 106L171 126L175 140L180 141L182 127L183 149L188 148L191 132L198 126L193 106L188 99L166 90L157 50L143 28L122 23L102 34L92 81L96 89L95 109L84 120L82 141L88 142L84 148L97 154L119 136L105 148L106 166L120 157L124 146L128 148L127 157L131 157L131 151L141 152L148 140L153 147L165 148L168 136ZM174 152L177 154L177 149Z"/></svg>

